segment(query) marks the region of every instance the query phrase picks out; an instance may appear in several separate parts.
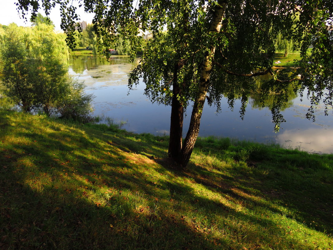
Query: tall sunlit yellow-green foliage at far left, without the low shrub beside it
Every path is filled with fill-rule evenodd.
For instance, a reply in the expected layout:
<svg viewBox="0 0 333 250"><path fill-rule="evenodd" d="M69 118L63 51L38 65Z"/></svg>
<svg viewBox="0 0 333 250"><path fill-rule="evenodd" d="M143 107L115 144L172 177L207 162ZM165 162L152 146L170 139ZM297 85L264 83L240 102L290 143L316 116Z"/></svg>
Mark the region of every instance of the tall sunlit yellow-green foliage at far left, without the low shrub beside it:
<svg viewBox="0 0 333 250"><path fill-rule="evenodd" d="M67 82L68 47L53 26L18 27L2 32L0 62L6 94L24 111L42 107L50 114Z"/></svg>

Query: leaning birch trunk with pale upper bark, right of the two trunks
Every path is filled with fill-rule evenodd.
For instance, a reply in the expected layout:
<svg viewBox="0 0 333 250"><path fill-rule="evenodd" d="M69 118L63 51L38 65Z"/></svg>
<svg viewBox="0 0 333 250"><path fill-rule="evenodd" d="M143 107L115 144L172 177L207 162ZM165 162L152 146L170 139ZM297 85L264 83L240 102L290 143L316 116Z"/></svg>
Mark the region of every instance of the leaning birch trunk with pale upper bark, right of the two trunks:
<svg viewBox="0 0 333 250"><path fill-rule="evenodd" d="M213 20L211 21L210 25L211 32L220 31L222 20L225 14L226 5L227 1L225 0L220 0L218 1L218 5L215 5ZM189 158L191 157L195 141L199 134L202 108L209 87L209 75L212 69L212 60L214 58L214 54L215 54L215 47L212 45L210 51L206 52L203 56L198 93L194 101L190 125L181 149L181 158L179 161L177 161L178 163L180 163L182 167L186 167Z"/></svg>

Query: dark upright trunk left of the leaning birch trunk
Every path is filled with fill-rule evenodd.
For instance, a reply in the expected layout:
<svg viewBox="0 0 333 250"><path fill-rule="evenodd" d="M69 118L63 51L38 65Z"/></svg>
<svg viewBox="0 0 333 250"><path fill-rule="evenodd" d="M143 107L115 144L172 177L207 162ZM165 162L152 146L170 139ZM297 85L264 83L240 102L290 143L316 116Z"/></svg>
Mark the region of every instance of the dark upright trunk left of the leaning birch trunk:
<svg viewBox="0 0 333 250"><path fill-rule="evenodd" d="M173 72L173 85L172 85L172 104L171 104L171 117L170 117L170 139L168 157L178 162L180 159L180 152L182 146L182 131L183 131L183 117L184 107L177 98L177 95L182 95L182 89L179 87L177 81L178 62L174 66Z"/></svg>

